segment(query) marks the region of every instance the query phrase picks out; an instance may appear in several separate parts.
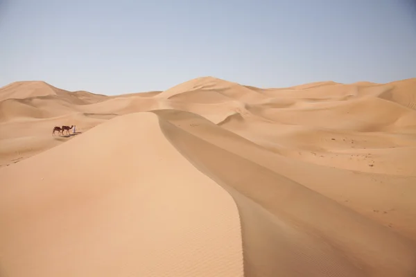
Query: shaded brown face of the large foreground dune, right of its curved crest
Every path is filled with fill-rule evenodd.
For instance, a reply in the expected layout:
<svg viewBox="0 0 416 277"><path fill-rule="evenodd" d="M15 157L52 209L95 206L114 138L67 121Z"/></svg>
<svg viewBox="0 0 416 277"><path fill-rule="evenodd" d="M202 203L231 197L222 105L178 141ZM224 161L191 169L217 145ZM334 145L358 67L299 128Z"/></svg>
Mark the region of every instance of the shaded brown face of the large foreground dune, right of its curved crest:
<svg viewBox="0 0 416 277"><path fill-rule="evenodd" d="M211 136L230 135L204 119L178 111L155 113L184 157L233 195L241 213L246 276L416 274L416 246L407 238L211 143ZM191 124L209 132L208 139L182 129Z"/></svg>

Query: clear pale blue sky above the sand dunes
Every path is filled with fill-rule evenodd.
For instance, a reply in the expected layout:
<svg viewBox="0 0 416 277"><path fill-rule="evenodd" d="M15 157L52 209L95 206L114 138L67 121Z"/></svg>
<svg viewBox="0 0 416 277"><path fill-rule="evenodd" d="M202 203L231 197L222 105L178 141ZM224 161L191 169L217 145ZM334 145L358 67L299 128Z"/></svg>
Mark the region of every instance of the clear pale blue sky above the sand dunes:
<svg viewBox="0 0 416 277"><path fill-rule="evenodd" d="M413 0L0 0L0 87L108 95L416 77Z"/></svg>

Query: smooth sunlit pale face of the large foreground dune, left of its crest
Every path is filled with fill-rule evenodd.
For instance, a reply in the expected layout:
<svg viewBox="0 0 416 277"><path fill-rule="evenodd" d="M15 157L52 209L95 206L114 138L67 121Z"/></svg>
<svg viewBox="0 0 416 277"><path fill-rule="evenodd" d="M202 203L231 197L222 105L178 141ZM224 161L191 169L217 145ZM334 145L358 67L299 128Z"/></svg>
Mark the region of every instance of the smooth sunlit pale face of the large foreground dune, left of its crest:
<svg viewBox="0 0 416 277"><path fill-rule="evenodd" d="M114 118L0 180L5 276L243 274L234 201L168 143L155 114Z"/></svg>

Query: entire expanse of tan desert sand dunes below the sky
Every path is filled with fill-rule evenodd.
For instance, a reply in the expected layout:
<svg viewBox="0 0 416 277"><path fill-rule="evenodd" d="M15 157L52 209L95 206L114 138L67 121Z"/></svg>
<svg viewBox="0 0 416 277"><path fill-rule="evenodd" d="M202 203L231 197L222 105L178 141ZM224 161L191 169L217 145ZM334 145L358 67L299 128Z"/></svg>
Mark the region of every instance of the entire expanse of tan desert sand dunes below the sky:
<svg viewBox="0 0 416 277"><path fill-rule="evenodd" d="M416 78L9 84L0 276L416 276Z"/></svg>

